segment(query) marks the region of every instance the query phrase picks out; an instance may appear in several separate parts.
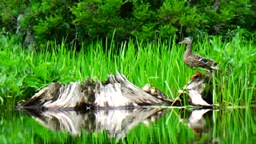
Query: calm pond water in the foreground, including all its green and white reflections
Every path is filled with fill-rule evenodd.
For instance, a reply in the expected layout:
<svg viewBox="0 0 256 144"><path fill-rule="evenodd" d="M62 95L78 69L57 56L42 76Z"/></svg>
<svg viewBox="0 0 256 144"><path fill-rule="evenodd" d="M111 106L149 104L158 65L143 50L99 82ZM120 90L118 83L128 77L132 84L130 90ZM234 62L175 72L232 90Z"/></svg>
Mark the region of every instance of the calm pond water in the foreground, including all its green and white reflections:
<svg viewBox="0 0 256 144"><path fill-rule="evenodd" d="M46 111L1 108L0 143L253 143L256 109Z"/></svg>

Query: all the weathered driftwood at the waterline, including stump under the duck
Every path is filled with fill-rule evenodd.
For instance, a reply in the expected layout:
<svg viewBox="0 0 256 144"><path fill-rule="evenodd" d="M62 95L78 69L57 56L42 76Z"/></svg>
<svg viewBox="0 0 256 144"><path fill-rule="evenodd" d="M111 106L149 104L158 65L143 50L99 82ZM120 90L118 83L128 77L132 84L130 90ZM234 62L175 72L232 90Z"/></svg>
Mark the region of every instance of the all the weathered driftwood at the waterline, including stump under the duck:
<svg viewBox="0 0 256 144"><path fill-rule="evenodd" d="M187 94L194 106L213 106L212 100L203 99L209 77L195 74L192 80L180 90L180 96ZM106 82L86 78L84 82L70 82L64 86L60 82L51 83L25 102L18 109L34 110L98 110L138 108L141 106L182 106L180 99L170 100L161 90L146 84L135 86L119 74L110 74ZM182 99L182 98L181 98ZM209 98L208 98L209 99Z"/></svg>

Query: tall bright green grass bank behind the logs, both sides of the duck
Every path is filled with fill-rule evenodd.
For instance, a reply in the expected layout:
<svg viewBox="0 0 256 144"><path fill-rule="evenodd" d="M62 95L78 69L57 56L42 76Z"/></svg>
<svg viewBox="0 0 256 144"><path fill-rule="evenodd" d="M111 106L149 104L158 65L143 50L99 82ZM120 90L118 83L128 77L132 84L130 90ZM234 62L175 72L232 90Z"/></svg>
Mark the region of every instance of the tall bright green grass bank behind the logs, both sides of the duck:
<svg viewBox="0 0 256 144"><path fill-rule="evenodd" d="M214 102L222 106L254 105L256 85L256 49L253 41L242 38L242 31L230 42L221 37L194 41L194 51L219 62L222 71L214 74ZM101 41L74 47L48 45L31 52L18 45L14 37L0 36L0 103L12 105L29 98L50 82L83 81L86 77L106 80L118 70L136 86L150 83L173 99L195 73L185 66L185 46L169 42L123 42L119 46ZM108 49L108 51L106 51ZM117 53L115 50L118 50Z"/></svg>

